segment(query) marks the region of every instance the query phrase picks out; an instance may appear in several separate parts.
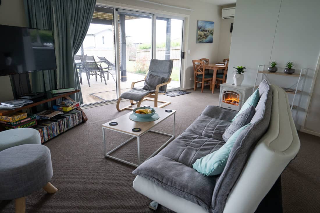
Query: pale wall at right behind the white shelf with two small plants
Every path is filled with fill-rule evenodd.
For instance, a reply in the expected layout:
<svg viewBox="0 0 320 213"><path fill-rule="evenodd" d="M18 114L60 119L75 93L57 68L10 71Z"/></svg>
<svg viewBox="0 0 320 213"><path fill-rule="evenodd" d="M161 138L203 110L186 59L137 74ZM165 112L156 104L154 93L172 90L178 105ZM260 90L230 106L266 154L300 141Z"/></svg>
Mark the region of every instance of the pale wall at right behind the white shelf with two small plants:
<svg viewBox="0 0 320 213"><path fill-rule="evenodd" d="M245 66L243 84L253 85L259 64L268 64L276 60L278 72L282 72L285 63L295 63L296 72L308 67L308 76L303 88L297 116L297 128L300 129L305 116L310 84L315 72L320 51L320 1L314 0L238 0L236 18L231 40L230 67ZM270 77L269 77L270 76ZM271 83L282 87L294 87L296 78L275 77L269 75ZM232 82L228 75L227 82ZM261 76L258 77L261 79ZM293 95L289 94L289 101ZM298 105L299 98L295 101ZM295 116L296 111L293 111Z"/></svg>

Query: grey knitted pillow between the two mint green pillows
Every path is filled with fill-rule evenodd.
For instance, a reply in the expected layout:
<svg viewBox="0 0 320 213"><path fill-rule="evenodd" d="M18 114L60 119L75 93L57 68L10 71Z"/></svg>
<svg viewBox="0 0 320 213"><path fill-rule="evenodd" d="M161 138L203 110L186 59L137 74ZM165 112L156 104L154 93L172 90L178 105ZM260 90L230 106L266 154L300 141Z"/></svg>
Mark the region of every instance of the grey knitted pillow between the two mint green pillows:
<svg viewBox="0 0 320 213"><path fill-rule="evenodd" d="M229 125L229 127L224 131L222 135L223 140L227 142L227 140L231 137L233 133L235 133L238 129L240 129L244 125L247 125L248 123L250 123L255 112L256 110L254 106L250 106L249 108L244 110L242 113L240 113L236 117L236 119Z"/></svg>

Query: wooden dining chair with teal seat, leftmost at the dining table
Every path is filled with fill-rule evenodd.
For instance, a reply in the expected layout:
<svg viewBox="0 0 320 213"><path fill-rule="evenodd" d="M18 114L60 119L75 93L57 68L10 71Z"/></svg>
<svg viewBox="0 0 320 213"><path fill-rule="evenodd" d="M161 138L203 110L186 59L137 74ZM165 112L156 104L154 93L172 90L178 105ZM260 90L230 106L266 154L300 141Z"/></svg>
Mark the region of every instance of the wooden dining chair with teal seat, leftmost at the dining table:
<svg viewBox="0 0 320 213"><path fill-rule="evenodd" d="M195 90L197 88L197 84L201 83L201 92L203 92L204 86L211 85L213 74L205 74L204 62L201 60L192 60L192 64L195 75Z"/></svg>

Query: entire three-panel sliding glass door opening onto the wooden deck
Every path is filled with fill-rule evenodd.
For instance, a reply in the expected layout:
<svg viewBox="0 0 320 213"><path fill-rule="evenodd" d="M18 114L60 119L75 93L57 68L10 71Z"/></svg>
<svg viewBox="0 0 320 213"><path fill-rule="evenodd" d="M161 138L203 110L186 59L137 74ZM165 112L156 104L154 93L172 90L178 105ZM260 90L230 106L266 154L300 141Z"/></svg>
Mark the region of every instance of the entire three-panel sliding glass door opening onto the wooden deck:
<svg viewBox="0 0 320 213"><path fill-rule="evenodd" d="M84 105L116 100L144 78L153 58L173 60L167 89L180 88L182 32L183 18L96 6L75 55Z"/></svg>

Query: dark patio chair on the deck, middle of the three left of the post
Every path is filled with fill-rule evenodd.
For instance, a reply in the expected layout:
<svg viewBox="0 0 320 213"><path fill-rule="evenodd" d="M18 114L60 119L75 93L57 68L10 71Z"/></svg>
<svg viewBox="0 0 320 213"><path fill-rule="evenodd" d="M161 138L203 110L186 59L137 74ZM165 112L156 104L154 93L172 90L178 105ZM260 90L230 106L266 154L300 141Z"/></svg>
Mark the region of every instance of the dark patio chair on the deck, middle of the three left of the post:
<svg viewBox="0 0 320 213"><path fill-rule="evenodd" d="M104 72L102 71L101 66L97 64L93 56L80 56L80 59L87 76L89 87L90 87L90 81L89 81L90 74L96 76L96 81L97 81L97 75L99 75L101 77L101 82L103 78L104 83L107 85L106 78L104 77Z"/></svg>

